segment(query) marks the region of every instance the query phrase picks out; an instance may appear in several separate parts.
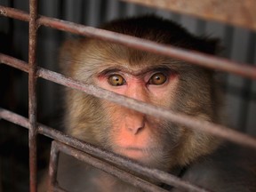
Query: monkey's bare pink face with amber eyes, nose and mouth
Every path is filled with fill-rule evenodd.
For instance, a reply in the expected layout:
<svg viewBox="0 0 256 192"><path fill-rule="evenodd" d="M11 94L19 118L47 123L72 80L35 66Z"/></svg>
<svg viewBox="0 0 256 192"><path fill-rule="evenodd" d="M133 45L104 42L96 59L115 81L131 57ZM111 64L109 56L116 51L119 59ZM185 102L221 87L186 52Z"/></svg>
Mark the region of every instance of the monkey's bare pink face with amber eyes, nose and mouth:
<svg viewBox="0 0 256 192"><path fill-rule="evenodd" d="M133 69L116 65L96 76L96 84L108 91L165 108L172 106L178 82L175 71L159 66ZM106 133L114 152L150 165L170 156L179 137L174 127L168 134L170 124L108 101L103 101L102 107L111 124Z"/></svg>

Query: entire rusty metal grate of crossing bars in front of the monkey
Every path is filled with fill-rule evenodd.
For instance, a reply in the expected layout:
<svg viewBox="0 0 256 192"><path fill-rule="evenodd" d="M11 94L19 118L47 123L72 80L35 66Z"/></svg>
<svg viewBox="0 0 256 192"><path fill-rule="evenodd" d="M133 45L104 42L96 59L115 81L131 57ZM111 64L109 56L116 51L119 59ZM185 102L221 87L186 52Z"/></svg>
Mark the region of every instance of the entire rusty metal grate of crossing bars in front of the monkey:
<svg viewBox="0 0 256 192"><path fill-rule="evenodd" d="M62 84L87 94L92 94L101 99L110 100L117 104L123 105L127 108L138 110L142 113L158 116L171 120L176 124L183 124L188 128L200 130L202 132L209 132L213 135L219 136L226 140L236 142L238 144L256 148L256 139L252 136L246 135L241 132L236 132L228 127L224 127L220 124L212 124L202 120L192 118L183 114L173 113L171 110L164 108L157 108L152 105L140 102L138 100L132 100L118 95L114 92L108 92L100 89L99 87L92 86L90 84L82 84L74 79L67 78L58 73L50 70L39 68L36 66L36 35L37 29L44 25L45 27L56 28L63 31L68 31L81 36L90 36L93 38L99 38L104 41L113 42L116 44L124 44L135 49L144 50L148 52L154 52L164 56L169 56L179 60L186 60L189 63L200 65L205 68L218 69L229 73L234 73L239 76L249 77L256 79L256 68L244 63L237 63L230 60L220 59L200 52L186 51L180 48L172 46L166 46L163 44L156 44L147 40L142 40L132 36L125 36L122 34L116 34L114 32L85 27L76 23L68 22L65 20L57 20L49 17L40 16L37 14L37 1L30 0L29 3L30 13L22 12L17 9L0 6L0 14L12 19L24 20L29 22L29 54L28 63L12 58L11 56L0 53L0 63L18 68L28 73L28 119L24 116L19 116L12 111L8 111L4 108L0 108L0 117L12 122L13 124L19 124L28 128L29 139L29 168L30 168L30 191L36 191L36 135L44 134L47 137L52 138L52 153L50 163L50 176L51 176L51 188L52 191L64 191L61 189L56 181L56 169L58 162L58 154L60 151L67 153L71 156L75 156L79 160L82 160L88 164L92 164L106 172L118 176L121 180L125 180L134 186L139 186L147 191L165 191L162 188L158 188L156 185L148 183L145 180L140 180L127 172L119 170L115 166L106 166L106 163L102 159L108 159L108 162L113 164L119 164L123 167L129 168L134 172L140 172L148 177L161 181L163 183L172 185L176 188L183 188L193 191L206 191L204 188L199 188L188 182L182 181L179 178L166 173L148 167L141 166L139 164L133 164L130 161L125 160L119 156L115 156L112 153L108 153L100 148L92 147L90 144L76 140L69 137L62 132L56 131L51 127L47 127L43 124L37 123L36 120L36 81L38 77L47 79L57 84ZM71 146L71 147L70 147ZM81 152L84 151L84 152ZM95 157L97 156L97 159ZM98 159L99 158L99 159ZM101 159L101 160L100 160ZM108 167L108 168L106 168Z"/></svg>

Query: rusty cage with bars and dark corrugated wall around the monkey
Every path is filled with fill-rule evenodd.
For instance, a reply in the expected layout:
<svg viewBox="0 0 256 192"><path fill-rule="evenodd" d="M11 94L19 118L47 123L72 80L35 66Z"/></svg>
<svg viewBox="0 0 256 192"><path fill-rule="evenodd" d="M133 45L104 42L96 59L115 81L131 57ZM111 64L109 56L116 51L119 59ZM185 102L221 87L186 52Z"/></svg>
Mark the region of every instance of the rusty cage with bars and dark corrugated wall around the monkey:
<svg viewBox="0 0 256 192"><path fill-rule="evenodd" d="M118 156L93 148L62 133L60 100L62 85L72 86L84 92L104 97L104 92L67 79L60 72L58 52L61 42L73 34L94 36L117 44L132 44L133 48L161 53L167 56L207 63L207 68L219 70L225 93L225 110L228 126L236 131L222 130L219 125L210 124L209 132L249 146L252 154L256 148L256 4L253 0L244 2L211 0L189 1L140 1L140 0L54 0L54 1L6 1L0 3L0 191L36 191L40 171L48 166L52 140L51 167L52 187L56 185L58 153L60 151L76 156L81 161L106 169L117 177L127 180L147 191L160 190L154 184L138 181L127 172L119 172L99 159L85 156L97 154L100 159L110 159L113 164L122 164L132 170L140 170L154 179L188 191L204 190L193 184L186 184L168 173L152 172L147 167L132 164ZM236 14L234 14L236 12ZM209 35L221 40L223 50L218 58L193 56L188 52L173 53L171 48L161 44L138 44L131 38L95 30L101 23L116 18L155 13L174 20L196 35ZM57 18L59 20L54 20ZM86 27L84 27L86 26ZM161 51L162 50L162 51ZM175 49L174 49L175 50ZM249 64L244 64L249 63ZM54 82L54 83L53 83ZM57 83L57 84L55 84ZM113 100L110 95L107 100ZM142 105L131 100L128 106ZM135 107L133 107L135 108ZM172 121L178 121L171 113L161 113L156 108L142 108L142 112L152 111ZM225 117L226 118L226 117ZM190 119L183 119L186 122ZM187 124L196 126L191 120ZM196 121L196 120L195 120ZM193 125L194 124L194 125ZM26 127L22 129L21 127ZM56 129L53 129L53 128ZM45 137L46 136L46 137ZM64 145L64 144L65 145ZM67 146L69 145L69 146ZM28 148L29 146L29 148ZM45 157L46 156L46 157ZM46 159L46 160L45 160ZM29 168L30 167L30 168ZM110 168L109 168L110 167Z"/></svg>

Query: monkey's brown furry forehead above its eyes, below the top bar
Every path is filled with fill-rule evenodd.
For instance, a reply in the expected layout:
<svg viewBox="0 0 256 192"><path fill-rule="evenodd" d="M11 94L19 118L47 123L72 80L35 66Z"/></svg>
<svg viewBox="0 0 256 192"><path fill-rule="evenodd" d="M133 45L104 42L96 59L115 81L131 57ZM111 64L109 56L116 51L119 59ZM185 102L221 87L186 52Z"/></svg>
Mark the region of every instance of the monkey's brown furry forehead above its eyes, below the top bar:
<svg viewBox="0 0 256 192"><path fill-rule="evenodd" d="M148 71L156 67L176 68L184 64L167 56L134 50L124 45L99 42L99 40L92 40L84 52L80 52L78 60L84 68L88 66L88 68L122 69L132 74L138 71L143 73L144 70Z"/></svg>

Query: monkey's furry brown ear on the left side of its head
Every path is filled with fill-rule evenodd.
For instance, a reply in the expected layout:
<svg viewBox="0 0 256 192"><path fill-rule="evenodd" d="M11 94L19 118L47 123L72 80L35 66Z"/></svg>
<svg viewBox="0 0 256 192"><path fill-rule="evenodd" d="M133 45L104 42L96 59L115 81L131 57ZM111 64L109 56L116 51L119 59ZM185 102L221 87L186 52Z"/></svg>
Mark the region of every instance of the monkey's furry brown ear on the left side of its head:
<svg viewBox="0 0 256 192"><path fill-rule="evenodd" d="M78 55L78 47L80 46L78 39L71 39L64 42L59 52L59 67L65 76L72 76L76 58Z"/></svg>

